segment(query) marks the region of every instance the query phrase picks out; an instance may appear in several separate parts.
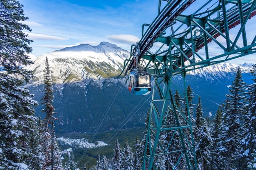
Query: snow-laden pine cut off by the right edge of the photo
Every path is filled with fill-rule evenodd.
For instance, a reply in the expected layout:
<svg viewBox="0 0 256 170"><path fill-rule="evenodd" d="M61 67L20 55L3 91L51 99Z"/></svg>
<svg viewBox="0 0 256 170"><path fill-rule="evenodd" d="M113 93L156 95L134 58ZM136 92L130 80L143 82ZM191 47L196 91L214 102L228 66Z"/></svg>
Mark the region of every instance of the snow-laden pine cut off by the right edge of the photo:
<svg viewBox="0 0 256 170"><path fill-rule="evenodd" d="M244 170L256 169L256 65L252 66L251 76L253 76L251 85L247 85L247 106L243 116L244 130L240 139L241 150L238 155L238 167Z"/></svg>

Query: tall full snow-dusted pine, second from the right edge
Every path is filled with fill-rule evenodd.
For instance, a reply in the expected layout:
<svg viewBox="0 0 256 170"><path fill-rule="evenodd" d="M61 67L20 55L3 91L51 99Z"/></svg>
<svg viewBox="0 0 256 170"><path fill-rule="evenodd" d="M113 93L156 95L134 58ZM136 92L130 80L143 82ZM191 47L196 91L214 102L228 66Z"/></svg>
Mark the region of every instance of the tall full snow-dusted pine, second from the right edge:
<svg viewBox="0 0 256 170"><path fill-rule="evenodd" d="M221 127L222 136L218 143L220 162L223 164L221 169L231 170L235 168L234 159L238 156L240 121L244 112L244 86L242 81L241 69L238 67L235 79L229 89L230 94L227 105L229 106L224 113L224 123Z"/></svg>

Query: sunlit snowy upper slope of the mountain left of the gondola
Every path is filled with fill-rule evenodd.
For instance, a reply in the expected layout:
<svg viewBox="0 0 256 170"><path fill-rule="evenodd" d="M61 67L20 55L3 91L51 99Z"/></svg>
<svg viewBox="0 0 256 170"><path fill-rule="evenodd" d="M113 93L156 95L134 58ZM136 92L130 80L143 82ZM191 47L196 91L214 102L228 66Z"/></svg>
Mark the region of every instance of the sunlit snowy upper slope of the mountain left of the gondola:
<svg viewBox="0 0 256 170"><path fill-rule="evenodd" d="M32 70L36 76L32 81L33 84L43 82L46 56L53 82L64 84L117 76L129 52L108 42L101 42L98 46L83 44L53 51L39 56L33 65L25 67Z"/></svg>

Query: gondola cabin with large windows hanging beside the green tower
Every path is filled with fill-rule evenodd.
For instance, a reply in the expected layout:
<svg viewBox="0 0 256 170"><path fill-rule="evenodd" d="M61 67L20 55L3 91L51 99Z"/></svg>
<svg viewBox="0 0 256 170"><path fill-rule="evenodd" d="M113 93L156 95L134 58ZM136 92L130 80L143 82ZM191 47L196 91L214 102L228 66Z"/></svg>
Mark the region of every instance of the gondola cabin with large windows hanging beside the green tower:
<svg viewBox="0 0 256 170"><path fill-rule="evenodd" d="M151 92L151 75L144 71L131 71L128 89L136 95L149 94Z"/></svg>

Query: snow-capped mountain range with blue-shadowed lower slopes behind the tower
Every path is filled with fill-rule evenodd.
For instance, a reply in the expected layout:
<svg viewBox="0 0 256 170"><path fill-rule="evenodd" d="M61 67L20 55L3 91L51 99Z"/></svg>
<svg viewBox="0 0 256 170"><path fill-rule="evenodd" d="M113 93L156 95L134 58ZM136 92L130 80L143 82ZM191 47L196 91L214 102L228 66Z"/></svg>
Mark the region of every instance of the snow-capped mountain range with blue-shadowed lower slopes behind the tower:
<svg viewBox="0 0 256 170"><path fill-rule="evenodd" d="M130 119L123 128L144 126L150 106L149 102L139 103L150 100L150 96L136 96L128 91L123 79L113 78L121 73L123 62L129 55L128 51L108 42L53 51L39 56L33 65L25 67L36 76L28 87L35 94L34 99L40 102L47 56L54 84L53 105L59 119L56 124L58 132L95 132L101 121L100 131L116 129L127 118ZM202 105L206 106L205 114L214 115L218 105L225 100L227 86L231 85L237 67L220 63L187 74L186 81L193 89L194 103L200 96ZM243 73L249 72L249 64L240 67ZM183 84L178 76L173 80L179 86ZM37 115L41 114L42 108L42 105L36 108ZM130 117L131 114L134 116Z"/></svg>

